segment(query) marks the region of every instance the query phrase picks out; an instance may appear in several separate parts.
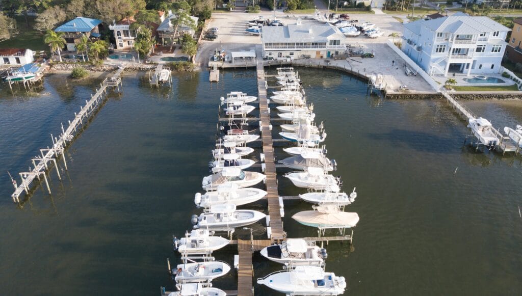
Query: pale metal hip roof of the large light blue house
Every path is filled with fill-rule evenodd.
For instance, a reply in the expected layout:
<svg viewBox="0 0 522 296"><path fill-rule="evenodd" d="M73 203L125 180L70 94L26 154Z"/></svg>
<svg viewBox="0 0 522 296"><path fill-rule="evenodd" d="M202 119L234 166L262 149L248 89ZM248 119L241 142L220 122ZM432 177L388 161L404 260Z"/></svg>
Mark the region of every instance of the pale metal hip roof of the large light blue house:
<svg viewBox="0 0 522 296"><path fill-rule="evenodd" d="M436 32L470 35L480 34L482 32L511 31L511 29L489 17L472 17L460 13L431 20L417 20L404 25L405 28L416 34L420 34L421 26L426 26Z"/></svg>

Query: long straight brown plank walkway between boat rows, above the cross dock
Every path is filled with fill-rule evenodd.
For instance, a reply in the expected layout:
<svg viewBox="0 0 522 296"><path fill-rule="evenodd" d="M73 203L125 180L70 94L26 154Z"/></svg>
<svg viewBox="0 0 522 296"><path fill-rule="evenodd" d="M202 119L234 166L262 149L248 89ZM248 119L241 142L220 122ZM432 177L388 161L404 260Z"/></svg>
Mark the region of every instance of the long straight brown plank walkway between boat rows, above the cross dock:
<svg viewBox="0 0 522 296"><path fill-rule="evenodd" d="M274 141L270 131L270 112L268 111L265 69L263 61L257 63L257 91L259 97L259 117L261 119L261 139L263 141L263 153L265 154L266 190L268 200L268 215L272 229L272 240L283 240L283 222L279 211L279 193L277 190L277 173L274 158Z"/></svg>

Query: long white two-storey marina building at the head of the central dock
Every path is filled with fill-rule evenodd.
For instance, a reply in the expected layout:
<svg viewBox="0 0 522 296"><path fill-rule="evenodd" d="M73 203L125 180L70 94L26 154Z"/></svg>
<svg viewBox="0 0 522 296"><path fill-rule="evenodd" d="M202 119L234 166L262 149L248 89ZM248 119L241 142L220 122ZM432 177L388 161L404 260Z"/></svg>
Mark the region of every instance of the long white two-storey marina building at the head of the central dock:
<svg viewBox="0 0 522 296"><path fill-rule="evenodd" d="M328 23L265 26L263 58L329 58L346 51L346 37Z"/></svg>

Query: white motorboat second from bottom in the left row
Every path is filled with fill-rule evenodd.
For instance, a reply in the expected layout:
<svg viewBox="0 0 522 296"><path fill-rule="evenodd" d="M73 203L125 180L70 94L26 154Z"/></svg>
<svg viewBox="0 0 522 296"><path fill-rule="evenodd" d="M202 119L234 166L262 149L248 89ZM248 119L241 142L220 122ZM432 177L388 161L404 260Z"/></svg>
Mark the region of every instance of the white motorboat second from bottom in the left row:
<svg viewBox="0 0 522 296"><path fill-rule="evenodd" d="M221 261L195 262L177 265L174 278L178 283L211 281L226 275L230 266Z"/></svg>

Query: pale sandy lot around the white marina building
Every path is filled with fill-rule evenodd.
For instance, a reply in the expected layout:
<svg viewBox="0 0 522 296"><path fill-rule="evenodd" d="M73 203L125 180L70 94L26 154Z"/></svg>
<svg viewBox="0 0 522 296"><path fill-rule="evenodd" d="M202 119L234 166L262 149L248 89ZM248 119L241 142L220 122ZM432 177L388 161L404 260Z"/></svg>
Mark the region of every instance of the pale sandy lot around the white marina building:
<svg viewBox="0 0 522 296"><path fill-rule="evenodd" d="M203 41L196 56L196 61L205 67L208 64L210 55L216 49L229 50L253 50L256 45L261 44L259 37L245 34L245 29L248 28L247 21L264 16L272 19L274 14L269 12L262 12L259 14L247 14L244 12L232 13L215 13L209 22L208 27L219 28L218 39L215 41ZM306 19L306 15L295 15L295 17L287 17L288 14L276 12L277 19L281 20L285 25L288 23L295 23L298 17L303 23L314 23L315 20ZM355 72L359 70L360 73L367 75L383 74L385 76L385 84L389 88L396 89L400 85L406 85L412 90L431 91L430 85L419 75L406 76L404 71L404 60L402 60L392 49L386 45L386 39L392 32L401 34L402 24L389 15L352 15L352 19L359 21L370 21L385 31L384 37L370 39L364 35L359 37L349 38L349 43L354 46L363 46L366 52L374 52L374 58L359 58L355 57L353 60L339 60L331 61L342 67L353 69ZM392 66L392 61L395 61ZM324 60L310 59L307 62L324 64Z"/></svg>

